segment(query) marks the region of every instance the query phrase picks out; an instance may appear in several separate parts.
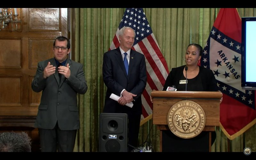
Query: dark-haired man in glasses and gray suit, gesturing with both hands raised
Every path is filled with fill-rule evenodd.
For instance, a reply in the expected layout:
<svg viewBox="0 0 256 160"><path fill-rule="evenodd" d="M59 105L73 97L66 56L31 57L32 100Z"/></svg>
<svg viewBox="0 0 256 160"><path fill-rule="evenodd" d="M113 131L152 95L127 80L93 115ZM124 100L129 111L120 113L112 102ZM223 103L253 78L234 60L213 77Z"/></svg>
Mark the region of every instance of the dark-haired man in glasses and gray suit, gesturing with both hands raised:
<svg viewBox="0 0 256 160"><path fill-rule="evenodd" d="M35 127L39 129L42 152L73 152L80 128L77 93L87 91L83 65L67 59L70 42L59 36L53 43L54 58L38 63L32 82L42 91ZM59 67L57 67L59 66Z"/></svg>

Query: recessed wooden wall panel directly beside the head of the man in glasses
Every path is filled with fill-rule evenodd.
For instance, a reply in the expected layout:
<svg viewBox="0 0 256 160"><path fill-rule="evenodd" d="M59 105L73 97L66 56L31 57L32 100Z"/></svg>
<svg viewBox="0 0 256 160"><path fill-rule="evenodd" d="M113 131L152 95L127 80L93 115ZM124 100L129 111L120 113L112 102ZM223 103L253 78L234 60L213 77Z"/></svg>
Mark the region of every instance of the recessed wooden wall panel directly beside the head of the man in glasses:
<svg viewBox="0 0 256 160"><path fill-rule="evenodd" d="M29 69L36 69L39 61L54 57L55 38L29 38Z"/></svg>

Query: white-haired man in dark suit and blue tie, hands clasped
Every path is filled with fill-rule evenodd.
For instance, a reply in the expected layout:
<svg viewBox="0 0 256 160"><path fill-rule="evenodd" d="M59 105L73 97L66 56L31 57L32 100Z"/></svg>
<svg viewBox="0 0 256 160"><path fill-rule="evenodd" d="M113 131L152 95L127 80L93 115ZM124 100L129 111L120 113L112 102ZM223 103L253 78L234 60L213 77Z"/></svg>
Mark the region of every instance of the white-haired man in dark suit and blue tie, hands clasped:
<svg viewBox="0 0 256 160"><path fill-rule="evenodd" d="M147 83L145 57L131 50L134 38L135 32L132 28L121 28L120 47L104 53L102 66L103 80L108 87L103 112L128 115L128 151L133 149L131 146L138 145L141 94ZM111 93L121 98L118 101L112 100L109 98ZM132 108L125 106L130 102L133 103Z"/></svg>

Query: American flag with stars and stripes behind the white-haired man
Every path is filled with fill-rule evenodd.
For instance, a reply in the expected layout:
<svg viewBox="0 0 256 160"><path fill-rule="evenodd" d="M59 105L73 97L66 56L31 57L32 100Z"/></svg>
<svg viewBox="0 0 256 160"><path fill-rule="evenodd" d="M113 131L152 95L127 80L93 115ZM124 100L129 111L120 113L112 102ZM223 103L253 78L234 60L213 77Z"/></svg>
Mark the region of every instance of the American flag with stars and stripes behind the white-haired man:
<svg viewBox="0 0 256 160"><path fill-rule="evenodd" d="M150 102L150 93L153 89L162 90L169 69L156 38L149 26L142 8L126 8L109 50L119 47L119 30L131 27L135 30L135 40L132 49L145 55L147 66L147 85L142 93L142 115L140 124L152 117L153 104Z"/></svg>

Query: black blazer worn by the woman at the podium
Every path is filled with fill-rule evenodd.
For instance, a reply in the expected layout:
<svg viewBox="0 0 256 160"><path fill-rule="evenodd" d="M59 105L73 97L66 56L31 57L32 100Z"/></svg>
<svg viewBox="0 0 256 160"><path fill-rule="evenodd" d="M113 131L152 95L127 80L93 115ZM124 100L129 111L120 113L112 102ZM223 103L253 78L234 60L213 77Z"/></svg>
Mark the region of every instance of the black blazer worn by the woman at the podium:
<svg viewBox="0 0 256 160"><path fill-rule="evenodd" d="M172 85L175 85L176 88L178 87L180 83L180 77L183 74L183 69L186 65L180 66L177 68L172 68L171 72L166 78L163 91L166 91L167 87L171 87ZM213 75L213 72L211 69L203 68L199 66L199 72L201 74L202 78L202 84L203 84L203 91L218 91L218 86L216 84L215 76Z"/></svg>

